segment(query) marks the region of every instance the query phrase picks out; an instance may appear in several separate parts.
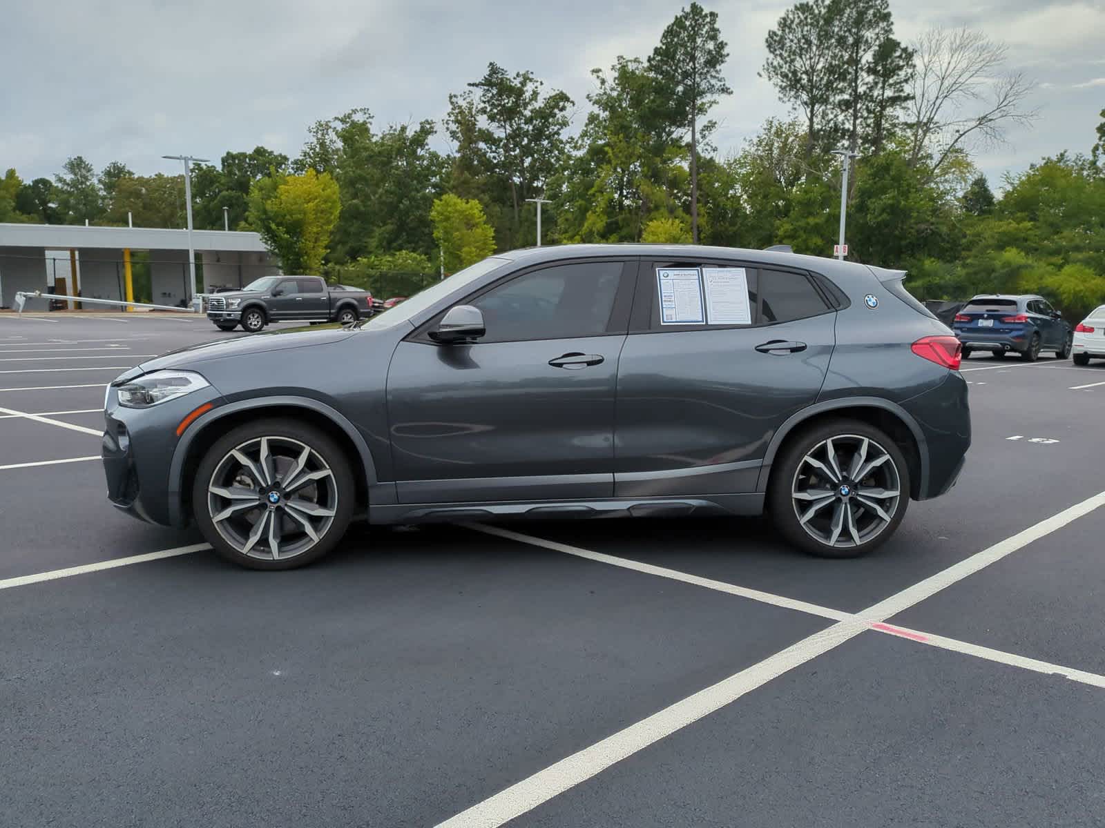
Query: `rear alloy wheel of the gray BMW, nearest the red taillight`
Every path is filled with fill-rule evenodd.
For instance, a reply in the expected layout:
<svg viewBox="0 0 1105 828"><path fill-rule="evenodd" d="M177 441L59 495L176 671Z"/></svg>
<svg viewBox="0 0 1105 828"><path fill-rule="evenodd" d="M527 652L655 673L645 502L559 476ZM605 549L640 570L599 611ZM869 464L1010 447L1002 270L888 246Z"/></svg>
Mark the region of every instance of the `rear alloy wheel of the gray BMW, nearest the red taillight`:
<svg viewBox="0 0 1105 828"><path fill-rule="evenodd" d="M839 549L863 545L881 534L902 497L894 458L857 434L829 437L807 452L790 491L807 534Z"/></svg>

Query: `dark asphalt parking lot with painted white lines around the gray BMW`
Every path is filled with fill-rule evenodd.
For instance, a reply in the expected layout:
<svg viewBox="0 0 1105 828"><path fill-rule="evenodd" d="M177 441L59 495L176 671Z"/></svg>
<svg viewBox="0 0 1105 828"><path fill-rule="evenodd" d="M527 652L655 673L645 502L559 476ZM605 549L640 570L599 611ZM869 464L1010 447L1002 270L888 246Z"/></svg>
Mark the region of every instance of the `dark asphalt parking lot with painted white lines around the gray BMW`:
<svg viewBox="0 0 1105 828"><path fill-rule="evenodd" d="M105 383L227 336L0 315L0 825L1105 822L1105 363L965 361L958 485L856 561L764 520L361 524L255 573L97 459Z"/></svg>

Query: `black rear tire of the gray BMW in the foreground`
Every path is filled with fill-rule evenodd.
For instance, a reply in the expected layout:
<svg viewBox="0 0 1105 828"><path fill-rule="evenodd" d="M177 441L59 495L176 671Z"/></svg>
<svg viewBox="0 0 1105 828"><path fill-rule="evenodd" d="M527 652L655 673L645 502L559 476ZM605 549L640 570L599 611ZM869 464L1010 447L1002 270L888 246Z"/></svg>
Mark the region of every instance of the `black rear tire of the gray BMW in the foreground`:
<svg viewBox="0 0 1105 828"><path fill-rule="evenodd" d="M863 479L853 481L848 476L851 470L848 468L851 465L848 453L854 449L855 454L851 455L851 459L854 459L863 440L867 440L867 461L877 459L882 454L887 459ZM831 475L834 473L828 460L827 443L833 446L838 463L841 458L845 461L841 468L843 478L836 482L832 481ZM808 461L811 456L817 460L818 455L825 457L822 468L829 469L828 474ZM894 485L896 489L887 488ZM845 487L850 489L848 492L843 492ZM872 492L877 490L885 495L896 491L897 495L891 498L876 498L872 495L864 499L864 487ZM814 512L807 512L807 523L803 524L798 505L809 503L812 509L818 499L809 498L809 495L814 491L829 492L830 488L832 493L827 495L830 499L819 507L824 511L814 509ZM796 492L801 492L803 499L797 499ZM882 510L882 516L876 514L864 500L874 501ZM902 449L881 429L856 420L831 420L788 438L772 464L767 502L779 533L792 545L819 558L859 558L884 543L905 517L909 505L909 467ZM845 535L851 532L842 529L835 544L830 545L827 541L831 539L838 510L842 527L848 524L855 532L848 538ZM888 517L890 520L885 521L883 517ZM859 543L855 538L859 538Z"/></svg>

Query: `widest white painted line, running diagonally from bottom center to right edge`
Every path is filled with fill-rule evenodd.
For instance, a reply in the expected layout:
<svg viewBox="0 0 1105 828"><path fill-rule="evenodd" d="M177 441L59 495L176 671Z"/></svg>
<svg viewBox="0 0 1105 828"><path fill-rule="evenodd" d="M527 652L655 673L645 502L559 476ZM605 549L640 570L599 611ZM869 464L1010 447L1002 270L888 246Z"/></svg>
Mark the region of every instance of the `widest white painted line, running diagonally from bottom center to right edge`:
<svg viewBox="0 0 1105 828"><path fill-rule="evenodd" d="M823 652L835 649L865 629L871 629L872 625L885 622L891 616L935 595L996 561L1000 561L1032 541L1061 529L1103 505L1105 505L1105 491L1064 509L1062 512L1042 520L943 572L873 604L854 617L839 620L774 656L549 765L544 771L538 771L536 774L446 819L439 825L439 828L462 828L462 826L464 828L474 826L497 828L497 826L508 822L565 790L586 782L614 763L659 742L664 736L732 704L745 693L762 687L771 679ZM481 527L481 531L490 528Z"/></svg>

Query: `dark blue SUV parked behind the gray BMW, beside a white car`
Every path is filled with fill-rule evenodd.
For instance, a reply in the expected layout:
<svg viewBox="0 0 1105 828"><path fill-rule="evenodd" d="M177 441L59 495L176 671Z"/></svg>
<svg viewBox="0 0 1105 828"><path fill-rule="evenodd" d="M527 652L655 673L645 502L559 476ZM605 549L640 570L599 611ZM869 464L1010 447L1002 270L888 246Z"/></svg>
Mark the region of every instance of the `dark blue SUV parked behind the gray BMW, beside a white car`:
<svg viewBox="0 0 1105 828"><path fill-rule="evenodd" d="M964 358L971 351L994 357L1015 351L1035 362L1041 351L1052 351L1065 360L1074 338L1071 325L1042 296L976 296L956 314L953 329Z"/></svg>

